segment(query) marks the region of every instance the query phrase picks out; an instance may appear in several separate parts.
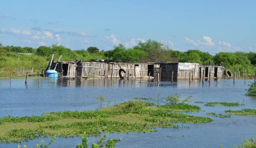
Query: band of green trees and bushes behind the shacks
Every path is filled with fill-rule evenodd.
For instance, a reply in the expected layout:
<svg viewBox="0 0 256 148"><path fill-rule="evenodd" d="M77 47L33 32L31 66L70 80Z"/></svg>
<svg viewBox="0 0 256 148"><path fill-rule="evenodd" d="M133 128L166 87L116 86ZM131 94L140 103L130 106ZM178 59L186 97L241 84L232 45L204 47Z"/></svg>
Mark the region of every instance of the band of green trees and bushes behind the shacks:
<svg viewBox="0 0 256 148"><path fill-rule="evenodd" d="M26 54L25 54L26 53ZM27 55L29 53L29 55ZM223 65L231 66L235 71L238 67L249 72L255 71L255 52L219 52L211 55L200 50L188 50L186 52L169 49L163 44L147 40L145 43L126 49L124 45L114 46L113 50L99 50L97 47L88 47L83 50L71 50L65 46L40 46L37 49L32 47L2 46L0 44L0 66L8 67L34 67L43 69L47 66L52 54L55 59L59 55L62 60L109 60L115 62L198 62L201 65Z"/></svg>

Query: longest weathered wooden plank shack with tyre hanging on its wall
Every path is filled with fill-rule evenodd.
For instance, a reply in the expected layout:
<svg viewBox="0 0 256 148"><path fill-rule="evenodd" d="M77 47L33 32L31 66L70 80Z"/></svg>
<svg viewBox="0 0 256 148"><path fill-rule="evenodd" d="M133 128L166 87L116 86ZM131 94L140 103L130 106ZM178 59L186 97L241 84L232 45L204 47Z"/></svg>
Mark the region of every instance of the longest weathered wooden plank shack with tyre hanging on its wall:
<svg viewBox="0 0 256 148"><path fill-rule="evenodd" d="M60 73L60 76L70 78L144 78L148 76L148 64L141 63L84 62L82 60L74 60L53 62L51 67L56 67L55 70Z"/></svg>

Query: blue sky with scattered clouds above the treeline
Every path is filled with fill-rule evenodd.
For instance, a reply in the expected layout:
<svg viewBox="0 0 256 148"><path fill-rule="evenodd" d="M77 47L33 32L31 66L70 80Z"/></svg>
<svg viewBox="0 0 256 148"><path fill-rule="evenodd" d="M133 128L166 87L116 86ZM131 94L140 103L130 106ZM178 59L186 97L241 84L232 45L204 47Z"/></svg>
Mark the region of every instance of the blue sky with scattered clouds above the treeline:
<svg viewBox="0 0 256 148"><path fill-rule="evenodd" d="M149 39L173 50L256 52L254 0L1 1L4 46L130 48Z"/></svg>

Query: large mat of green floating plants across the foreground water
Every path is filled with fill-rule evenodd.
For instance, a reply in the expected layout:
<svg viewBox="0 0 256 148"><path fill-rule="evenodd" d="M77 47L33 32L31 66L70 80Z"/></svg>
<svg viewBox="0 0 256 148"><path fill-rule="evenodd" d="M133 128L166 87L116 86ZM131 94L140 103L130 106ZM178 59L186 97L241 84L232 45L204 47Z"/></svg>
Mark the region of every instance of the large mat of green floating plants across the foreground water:
<svg viewBox="0 0 256 148"><path fill-rule="evenodd" d="M100 110L52 112L42 116L0 118L0 142L21 142L39 137L88 136L104 133L152 132L156 127L178 128L177 123L208 123L211 118L178 113L199 111L195 105L156 105L129 101Z"/></svg>

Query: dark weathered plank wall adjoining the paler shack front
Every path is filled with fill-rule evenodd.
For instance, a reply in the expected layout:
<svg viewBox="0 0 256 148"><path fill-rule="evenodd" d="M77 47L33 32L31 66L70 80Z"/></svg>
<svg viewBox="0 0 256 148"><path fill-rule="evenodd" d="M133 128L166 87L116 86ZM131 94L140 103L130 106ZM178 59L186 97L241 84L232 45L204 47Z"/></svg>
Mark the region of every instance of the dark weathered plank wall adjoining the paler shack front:
<svg viewBox="0 0 256 148"><path fill-rule="evenodd" d="M173 79L178 79L178 63L160 64L161 78L171 80L172 71Z"/></svg>

